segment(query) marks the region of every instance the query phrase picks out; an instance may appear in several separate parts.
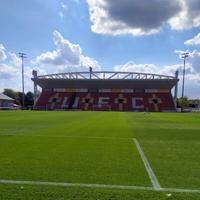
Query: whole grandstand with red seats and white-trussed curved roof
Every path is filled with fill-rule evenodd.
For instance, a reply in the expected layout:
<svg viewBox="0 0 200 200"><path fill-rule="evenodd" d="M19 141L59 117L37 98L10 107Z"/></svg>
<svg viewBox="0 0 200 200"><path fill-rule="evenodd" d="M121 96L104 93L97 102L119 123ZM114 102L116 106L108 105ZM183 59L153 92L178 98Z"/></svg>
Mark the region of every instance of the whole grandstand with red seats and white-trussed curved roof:
<svg viewBox="0 0 200 200"><path fill-rule="evenodd" d="M175 111L175 76L136 72L70 72L37 76L33 71L36 110ZM37 86L42 88L37 98ZM172 95L174 89L174 95Z"/></svg>

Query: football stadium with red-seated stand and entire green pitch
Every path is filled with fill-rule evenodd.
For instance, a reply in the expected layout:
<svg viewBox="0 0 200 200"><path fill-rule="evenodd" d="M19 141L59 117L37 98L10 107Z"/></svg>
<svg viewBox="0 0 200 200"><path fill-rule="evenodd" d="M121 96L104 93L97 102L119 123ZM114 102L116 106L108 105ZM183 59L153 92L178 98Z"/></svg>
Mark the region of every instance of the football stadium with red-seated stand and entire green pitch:
<svg viewBox="0 0 200 200"><path fill-rule="evenodd" d="M200 117L175 112L178 72L32 81L34 110L0 111L0 199L200 199Z"/></svg>

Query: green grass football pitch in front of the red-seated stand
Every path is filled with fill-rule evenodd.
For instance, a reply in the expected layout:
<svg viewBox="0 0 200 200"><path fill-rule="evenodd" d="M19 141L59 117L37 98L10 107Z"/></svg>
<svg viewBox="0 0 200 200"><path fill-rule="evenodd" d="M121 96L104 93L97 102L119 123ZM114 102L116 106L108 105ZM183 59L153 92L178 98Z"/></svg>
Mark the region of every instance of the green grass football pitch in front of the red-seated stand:
<svg viewBox="0 0 200 200"><path fill-rule="evenodd" d="M0 180L200 191L200 114L0 111ZM171 193L171 196L167 196ZM0 199L200 199L200 193L0 183Z"/></svg>

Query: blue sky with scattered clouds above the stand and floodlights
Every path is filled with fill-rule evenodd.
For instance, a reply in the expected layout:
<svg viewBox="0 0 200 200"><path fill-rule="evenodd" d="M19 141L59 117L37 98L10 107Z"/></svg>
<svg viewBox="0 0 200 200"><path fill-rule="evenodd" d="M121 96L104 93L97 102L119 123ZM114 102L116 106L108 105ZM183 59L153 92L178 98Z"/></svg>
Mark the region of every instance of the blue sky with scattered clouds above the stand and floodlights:
<svg viewBox="0 0 200 200"><path fill-rule="evenodd" d="M38 75L89 71L174 75L200 98L199 0L0 0L0 92Z"/></svg>

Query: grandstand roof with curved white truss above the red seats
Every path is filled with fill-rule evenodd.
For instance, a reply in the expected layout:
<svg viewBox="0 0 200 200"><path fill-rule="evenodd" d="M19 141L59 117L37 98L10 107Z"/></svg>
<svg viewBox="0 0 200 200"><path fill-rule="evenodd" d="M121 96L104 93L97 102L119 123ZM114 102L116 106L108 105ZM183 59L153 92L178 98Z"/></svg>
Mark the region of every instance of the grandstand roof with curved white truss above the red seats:
<svg viewBox="0 0 200 200"><path fill-rule="evenodd" d="M95 89L172 89L179 81L178 75L107 71L34 75L32 80L41 88Z"/></svg>

